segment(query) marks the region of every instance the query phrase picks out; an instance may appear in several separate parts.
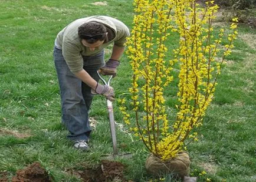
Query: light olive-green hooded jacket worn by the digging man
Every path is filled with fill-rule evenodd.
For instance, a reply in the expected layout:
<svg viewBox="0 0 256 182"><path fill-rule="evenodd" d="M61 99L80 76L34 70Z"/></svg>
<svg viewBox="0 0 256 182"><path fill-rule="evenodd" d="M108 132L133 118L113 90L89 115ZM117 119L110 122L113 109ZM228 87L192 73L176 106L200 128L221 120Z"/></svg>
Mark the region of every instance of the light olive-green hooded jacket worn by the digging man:
<svg viewBox="0 0 256 182"><path fill-rule="evenodd" d="M113 40L103 43L99 49L94 51L90 51L88 48L83 46L80 38L78 37L78 27L83 23L90 21L103 23L115 33ZM64 59L67 62L71 72L77 72L83 69L82 56L96 55L111 43L114 43L116 46L124 46L124 43L126 43L126 38L129 35L130 33L127 26L117 19L109 16L90 16L87 18L77 19L60 31L55 39L55 47L63 50Z"/></svg>

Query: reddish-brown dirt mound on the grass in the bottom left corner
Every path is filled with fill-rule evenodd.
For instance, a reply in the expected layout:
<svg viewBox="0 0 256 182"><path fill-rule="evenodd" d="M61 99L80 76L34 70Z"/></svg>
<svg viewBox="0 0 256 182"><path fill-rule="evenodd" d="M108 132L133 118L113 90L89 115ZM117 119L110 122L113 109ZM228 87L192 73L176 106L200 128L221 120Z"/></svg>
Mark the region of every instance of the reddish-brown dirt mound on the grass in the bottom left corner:
<svg viewBox="0 0 256 182"><path fill-rule="evenodd" d="M50 182L52 181L48 176L47 171L41 167L41 164L35 162L28 167L18 170L16 176L12 177L12 182Z"/></svg>

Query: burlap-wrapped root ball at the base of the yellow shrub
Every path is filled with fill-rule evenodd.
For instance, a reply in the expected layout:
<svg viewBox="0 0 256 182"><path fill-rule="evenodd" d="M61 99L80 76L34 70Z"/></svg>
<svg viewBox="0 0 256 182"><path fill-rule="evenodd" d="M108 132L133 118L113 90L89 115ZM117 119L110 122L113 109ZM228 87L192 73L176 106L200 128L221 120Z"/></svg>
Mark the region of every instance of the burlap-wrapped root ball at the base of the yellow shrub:
<svg viewBox="0 0 256 182"><path fill-rule="evenodd" d="M159 177L163 174L172 174L173 177L183 178L189 176L189 155L186 152L180 152L173 159L162 161L153 154L150 154L146 160L146 170L153 176Z"/></svg>

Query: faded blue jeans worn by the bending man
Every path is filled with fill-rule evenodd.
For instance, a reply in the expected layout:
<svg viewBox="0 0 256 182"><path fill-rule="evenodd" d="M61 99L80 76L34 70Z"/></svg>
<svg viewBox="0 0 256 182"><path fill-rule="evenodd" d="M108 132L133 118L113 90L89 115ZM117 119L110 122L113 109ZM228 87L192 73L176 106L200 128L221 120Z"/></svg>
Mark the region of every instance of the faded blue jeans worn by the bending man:
<svg viewBox="0 0 256 182"><path fill-rule="evenodd" d="M104 50L95 56L83 56L84 70L97 82L97 70L104 65ZM68 139L88 140L91 133L88 111L93 100L91 87L78 79L67 66L61 49L54 48L54 62L60 84L62 122L70 132Z"/></svg>

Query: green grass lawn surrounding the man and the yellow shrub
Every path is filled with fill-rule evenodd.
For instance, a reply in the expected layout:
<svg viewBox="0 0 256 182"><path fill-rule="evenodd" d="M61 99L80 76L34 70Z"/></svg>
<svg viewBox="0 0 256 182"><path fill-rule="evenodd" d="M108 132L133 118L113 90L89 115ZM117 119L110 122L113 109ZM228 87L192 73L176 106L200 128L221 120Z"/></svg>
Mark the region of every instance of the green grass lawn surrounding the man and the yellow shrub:
<svg viewBox="0 0 256 182"><path fill-rule="evenodd" d="M90 15L113 16L132 28L131 0L107 0L107 6L93 2L1 1L0 171L8 171L9 178L18 169L40 161L55 181L79 181L65 169L97 165L102 154L113 152L103 97L95 97L90 113L97 120L90 153L74 150L60 123L60 96L52 60L57 33L75 19ZM222 69L214 101L199 129L200 139L188 147L191 176L198 176L198 181L256 181L255 38L255 29L239 28L234 53ZM130 76L129 60L124 55L118 79L112 84L117 98L127 95ZM176 104L175 91L175 87L169 90L170 112ZM123 124L118 106L115 102L115 119ZM30 137L17 138L3 130ZM119 127L117 141L121 153L133 153L131 160L118 159L126 164L126 178L150 180L145 170L148 152L142 143L132 141ZM207 174L199 175L202 171Z"/></svg>

